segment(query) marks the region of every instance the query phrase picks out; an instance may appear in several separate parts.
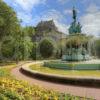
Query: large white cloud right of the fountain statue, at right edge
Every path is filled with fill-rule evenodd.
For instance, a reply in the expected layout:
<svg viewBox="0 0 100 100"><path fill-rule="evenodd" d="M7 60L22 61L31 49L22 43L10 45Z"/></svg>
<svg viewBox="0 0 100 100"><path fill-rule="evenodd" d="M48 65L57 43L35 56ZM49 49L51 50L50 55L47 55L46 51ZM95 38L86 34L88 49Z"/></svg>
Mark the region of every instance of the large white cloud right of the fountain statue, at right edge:
<svg viewBox="0 0 100 100"><path fill-rule="evenodd" d="M100 12L96 5L91 4L87 13L80 18L83 32L95 36L100 35Z"/></svg>

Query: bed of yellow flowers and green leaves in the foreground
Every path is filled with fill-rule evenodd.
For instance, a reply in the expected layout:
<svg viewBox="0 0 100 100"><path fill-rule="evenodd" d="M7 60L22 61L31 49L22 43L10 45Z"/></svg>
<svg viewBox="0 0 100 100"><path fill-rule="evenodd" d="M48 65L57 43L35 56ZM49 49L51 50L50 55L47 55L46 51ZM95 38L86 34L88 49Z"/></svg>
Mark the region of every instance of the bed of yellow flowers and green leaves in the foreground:
<svg viewBox="0 0 100 100"><path fill-rule="evenodd" d="M0 98L0 100L80 100L80 97L47 90L36 85L30 86L27 82L7 78L0 78Z"/></svg>

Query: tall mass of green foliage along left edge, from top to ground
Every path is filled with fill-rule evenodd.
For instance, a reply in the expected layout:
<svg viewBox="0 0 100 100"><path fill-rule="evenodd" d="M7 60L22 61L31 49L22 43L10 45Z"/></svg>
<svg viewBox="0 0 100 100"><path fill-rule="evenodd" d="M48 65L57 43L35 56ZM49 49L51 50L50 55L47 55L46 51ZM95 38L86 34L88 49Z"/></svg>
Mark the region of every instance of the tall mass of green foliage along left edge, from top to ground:
<svg viewBox="0 0 100 100"><path fill-rule="evenodd" d="M19 32L20 23L15 11L0 0L0 59L12 59L15 44L13 40Z"/></svg>

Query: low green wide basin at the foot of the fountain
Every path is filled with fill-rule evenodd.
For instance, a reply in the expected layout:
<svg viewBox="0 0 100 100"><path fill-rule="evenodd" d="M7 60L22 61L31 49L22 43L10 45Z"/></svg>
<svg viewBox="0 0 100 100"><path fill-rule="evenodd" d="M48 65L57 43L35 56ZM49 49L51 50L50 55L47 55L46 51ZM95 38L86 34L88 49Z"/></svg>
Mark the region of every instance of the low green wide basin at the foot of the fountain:
<svg viewBox="0 0 100 100"><path fill-rule="evenodd" d="M45 67L65 70L100 70L100 60L90 60L82 62L68 61L47 61Z"/></svg>

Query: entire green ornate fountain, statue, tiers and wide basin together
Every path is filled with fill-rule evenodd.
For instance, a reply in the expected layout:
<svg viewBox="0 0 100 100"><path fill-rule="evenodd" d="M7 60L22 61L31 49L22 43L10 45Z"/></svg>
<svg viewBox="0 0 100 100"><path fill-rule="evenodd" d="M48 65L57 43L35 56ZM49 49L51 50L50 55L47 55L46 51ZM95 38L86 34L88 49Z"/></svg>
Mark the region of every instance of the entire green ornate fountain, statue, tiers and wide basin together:
<svg viewBox="0 0 100 100"><path fill-rule="evenodd" d="M77 21L77 11L73 7L73 22L66 39L66 50L60 61L45 62L44 66L66 70L100 70L100 60L91 56L93 37L83 34Z"/></svg>

